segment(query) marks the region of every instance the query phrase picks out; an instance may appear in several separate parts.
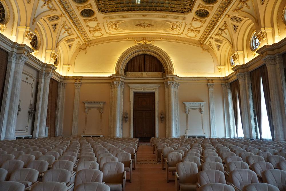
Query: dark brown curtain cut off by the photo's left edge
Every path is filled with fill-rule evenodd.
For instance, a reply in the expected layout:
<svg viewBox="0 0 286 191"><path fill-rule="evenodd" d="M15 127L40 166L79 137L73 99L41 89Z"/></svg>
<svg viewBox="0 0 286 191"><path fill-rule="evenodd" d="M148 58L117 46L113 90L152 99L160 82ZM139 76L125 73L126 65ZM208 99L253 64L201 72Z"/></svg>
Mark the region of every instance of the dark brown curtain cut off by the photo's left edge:
<svg viewBox="0 0 286 191"><path fill-rule="evenodd" d="M3 91L5 87L5 78L7 71L8 52L0 49L0 110L3 100Z"/></svg>

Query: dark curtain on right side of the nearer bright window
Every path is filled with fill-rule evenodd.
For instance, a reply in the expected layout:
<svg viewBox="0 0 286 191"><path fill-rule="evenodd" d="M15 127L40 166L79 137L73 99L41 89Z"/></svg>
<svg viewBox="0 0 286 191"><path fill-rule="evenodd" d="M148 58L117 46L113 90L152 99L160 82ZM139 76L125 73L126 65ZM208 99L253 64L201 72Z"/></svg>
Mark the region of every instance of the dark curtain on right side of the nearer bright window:
<svg viewBox="0 0 286 191"><path fill-rule="evenodd" d="M265 105L266 105L266 110L267 110L269 126L270 126L270 132L271 132L272 139L274 139L274 126L273 126L271 104L270 104L271 100L270 100L270 89L269 89L267 67L266 65L263 65L259 69L261 72L263 93L264 93L264 98L265 98Z"/></svg>

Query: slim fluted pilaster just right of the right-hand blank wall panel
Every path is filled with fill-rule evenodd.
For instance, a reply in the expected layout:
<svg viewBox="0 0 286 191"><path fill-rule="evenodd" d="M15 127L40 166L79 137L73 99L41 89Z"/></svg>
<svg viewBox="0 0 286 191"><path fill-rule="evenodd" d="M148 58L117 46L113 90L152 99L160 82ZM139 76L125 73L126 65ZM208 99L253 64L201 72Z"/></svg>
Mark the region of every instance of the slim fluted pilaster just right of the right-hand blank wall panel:
<svg viewBox="0 0 286 191"><path fill-rule="evenodd" d="M217 122L215 118L214 83L208 83L208 99L210 104L210 137L217 137Z"/></svg>

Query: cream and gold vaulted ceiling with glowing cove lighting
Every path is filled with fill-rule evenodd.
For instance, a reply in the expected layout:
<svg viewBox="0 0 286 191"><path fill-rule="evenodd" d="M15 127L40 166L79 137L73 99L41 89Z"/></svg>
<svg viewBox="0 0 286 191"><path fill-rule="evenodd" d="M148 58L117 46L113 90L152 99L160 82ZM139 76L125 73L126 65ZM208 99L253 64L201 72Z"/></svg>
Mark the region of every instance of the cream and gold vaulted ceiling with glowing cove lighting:
<svg viewBox="0 0 286 191"><path fill-rule="evenodd" d="M0 0L0 32L30 45L34 55L65 76L109 76L136 44L154 46L180 76L224 77L257 56L260 46L286 37L286 0ZM57 62L55 62L57 61Z"/></svg>

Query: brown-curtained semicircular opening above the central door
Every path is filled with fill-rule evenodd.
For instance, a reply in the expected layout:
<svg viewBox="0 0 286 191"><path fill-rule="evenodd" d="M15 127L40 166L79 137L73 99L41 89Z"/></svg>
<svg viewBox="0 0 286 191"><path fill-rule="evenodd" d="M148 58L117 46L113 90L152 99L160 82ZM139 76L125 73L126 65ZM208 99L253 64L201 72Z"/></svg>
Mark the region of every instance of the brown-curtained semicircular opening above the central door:
<svg viewBox="0 0 286 191"><path fill-rule="evenodd" d="M132 58L124 69L124 72L163 72L164 66L154 56L149 54L140 54Z"/></svg>

